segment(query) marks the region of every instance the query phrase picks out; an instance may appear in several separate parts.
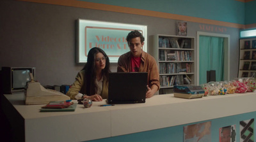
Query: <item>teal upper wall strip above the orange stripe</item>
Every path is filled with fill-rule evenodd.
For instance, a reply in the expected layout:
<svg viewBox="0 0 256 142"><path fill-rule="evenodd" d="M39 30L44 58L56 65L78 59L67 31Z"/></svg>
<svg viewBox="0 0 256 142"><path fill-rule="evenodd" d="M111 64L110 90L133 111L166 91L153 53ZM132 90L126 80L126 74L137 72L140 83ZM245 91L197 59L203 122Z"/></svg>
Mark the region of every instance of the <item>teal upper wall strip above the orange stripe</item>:
<svg viewBox="0 0 256 142"><path fill-rule="evenodd" d="M206 18L210 20L218 20L223 22L231 22L236 24L246 24L245 6L253 8L251 3L256 6L256 2L243 3L236 0L80 0L92 3L110 4L114 6L124 6L129 8L138 8L142 10L160 11L164 13L172 13L177 15L185 15L189 17ZM245 5L246 4L246 5ZM256 11L254 11L256 13ZM251 15L251 14L250 14ZM254 14L255 15L255 14ZM256 20L256 19L255 19ZM250 22L250 19L249 21ZM256 22L254 22L256 23Z"/></svg>

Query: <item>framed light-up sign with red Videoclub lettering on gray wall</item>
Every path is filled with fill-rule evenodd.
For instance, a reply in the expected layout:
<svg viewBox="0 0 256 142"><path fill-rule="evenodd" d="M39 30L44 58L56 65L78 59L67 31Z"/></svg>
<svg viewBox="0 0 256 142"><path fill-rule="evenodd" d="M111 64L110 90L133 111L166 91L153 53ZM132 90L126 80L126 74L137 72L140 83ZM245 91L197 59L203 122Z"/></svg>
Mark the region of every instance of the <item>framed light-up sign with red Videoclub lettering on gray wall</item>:
<svg viewBox="0 0 256 142"><path fill-rule="evenodd" d="M78 19L77 30L78 63L87 62L88 52L93 47L104 50L110 62L117 62L120 55L130 51L126 36L134 30L140 31L144 36L143 51L147 52L147 25Z"/></svg>

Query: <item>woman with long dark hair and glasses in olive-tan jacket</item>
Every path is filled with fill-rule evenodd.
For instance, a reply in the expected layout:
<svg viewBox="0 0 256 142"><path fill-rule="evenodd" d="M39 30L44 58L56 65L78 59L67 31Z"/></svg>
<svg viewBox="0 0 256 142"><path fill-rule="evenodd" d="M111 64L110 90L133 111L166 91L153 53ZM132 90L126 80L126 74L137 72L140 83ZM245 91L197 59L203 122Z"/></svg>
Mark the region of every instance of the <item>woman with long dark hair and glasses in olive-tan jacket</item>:
<svg viewBox="0 0 256 142"><path fill-rule="evenodd" d="M87 58L87 63L76 76L76 81L67 92L71 99L92 99L102 101L108 97L109 59L106 53L93 47Z"/></svg>

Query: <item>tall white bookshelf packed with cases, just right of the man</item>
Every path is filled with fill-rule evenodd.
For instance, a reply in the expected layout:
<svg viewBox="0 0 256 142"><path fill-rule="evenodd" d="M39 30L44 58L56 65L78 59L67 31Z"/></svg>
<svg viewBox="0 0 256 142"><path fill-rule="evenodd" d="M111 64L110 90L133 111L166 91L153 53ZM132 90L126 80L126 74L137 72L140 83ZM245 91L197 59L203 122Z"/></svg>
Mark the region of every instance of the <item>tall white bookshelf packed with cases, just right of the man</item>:
<svg viewBox="0 0 256 142"><path fill-rule="evenodd" d="M159 94L173 93L173 85L195 85L195 38L156 34L148 52L159 67Z"/></svg>

